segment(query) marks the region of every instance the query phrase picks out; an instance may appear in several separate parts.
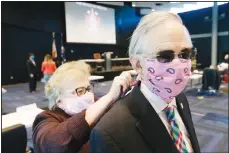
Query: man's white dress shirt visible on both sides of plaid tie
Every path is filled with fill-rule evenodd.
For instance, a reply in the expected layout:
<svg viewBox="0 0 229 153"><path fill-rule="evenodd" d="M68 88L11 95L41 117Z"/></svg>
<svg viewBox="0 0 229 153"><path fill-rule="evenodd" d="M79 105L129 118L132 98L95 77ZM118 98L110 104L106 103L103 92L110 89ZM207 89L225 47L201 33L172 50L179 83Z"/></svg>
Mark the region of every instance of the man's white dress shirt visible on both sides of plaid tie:
<svg viewBox="0 0 229 153"><path fill-rule="evenodd" d="M182 133L182 137L183 140L185 141L186 147L188 152L193 152L192 149L192 145L189 139L189 134L186 130L186 127L180 117L180 114L177 110L177 106L176 106L176 99L174 98L172 100L171 103L167 104L165 101L163 101L160 97L158 97L157 95L153 94L147 87L146 85L144 85L143 83L141 83L141 87L140 87L141 92L143 93L143 95L146 97L146 99L149 101L149 103L151 104L151 106L154 108L154 110L157 112L158 116L160 117L161 121L163 122L163 124L165 125L168 133L170 133L170 124L167 120L166 117L166 113L164 111L164 109L167 106L175 106L174 108L174 112L175 112L175 120L176 123L179 126L179 129ZM182 106L183 107L183 106Z"/></svg>

